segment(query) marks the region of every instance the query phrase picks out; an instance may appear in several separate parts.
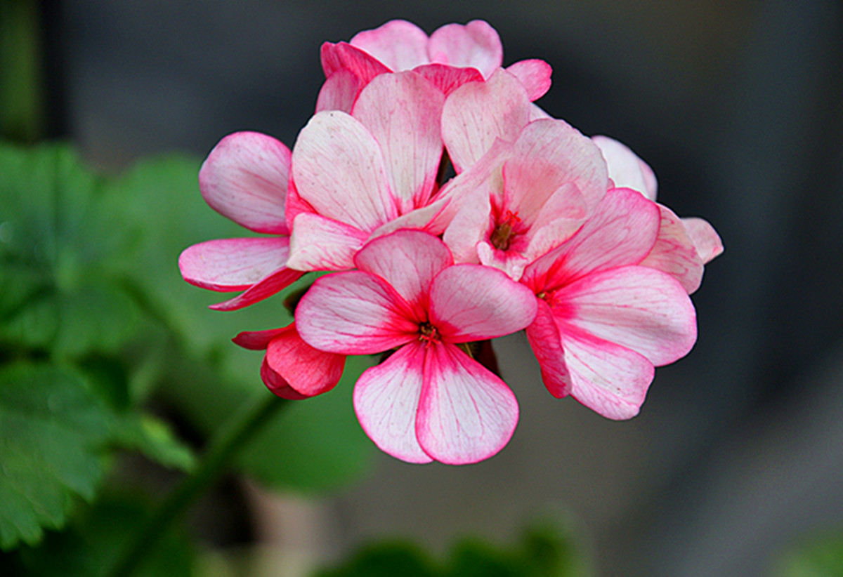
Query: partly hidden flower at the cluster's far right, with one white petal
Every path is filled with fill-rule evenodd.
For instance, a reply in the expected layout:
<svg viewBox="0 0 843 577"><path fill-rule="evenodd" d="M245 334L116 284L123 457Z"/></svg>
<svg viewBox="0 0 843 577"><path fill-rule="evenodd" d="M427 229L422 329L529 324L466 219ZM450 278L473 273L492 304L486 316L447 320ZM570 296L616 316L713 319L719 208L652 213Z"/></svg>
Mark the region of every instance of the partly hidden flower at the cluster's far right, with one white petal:
<svg viewBox="0 0 843 577"><path fill-rule="evenodd" d="M658 182L647 163L609 136L592 136L592 141L603 152L615 186L637 190L647 199L656 200ZM658 205L658 210L658 238L641 264L668 273L691 294L700 288L704 265L723 252L723 243L705 220L679 218L663 205Z"/></svg>

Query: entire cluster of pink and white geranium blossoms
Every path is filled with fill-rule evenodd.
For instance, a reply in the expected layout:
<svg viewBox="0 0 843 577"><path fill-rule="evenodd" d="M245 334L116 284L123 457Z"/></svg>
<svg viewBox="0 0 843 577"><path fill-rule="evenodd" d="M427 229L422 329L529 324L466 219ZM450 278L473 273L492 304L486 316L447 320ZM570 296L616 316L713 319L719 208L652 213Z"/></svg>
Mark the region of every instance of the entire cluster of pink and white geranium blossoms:
<svg viewBox="0 0 843 577"><path fill-rule="evenodd" d="M637 414L654 366L694 345L689 294L722 251L711 225L656 203L629 148L533 104L550 66L502 68L485 22L428 37L395 20L321 56L325 84L292 152L238 132L199 174L213 209L266 236L200 243L179 262L188 282L243 291L218 310L333 271L292 324L234 339L266 350L267 387L313 397L346 355L383 353L353 395L375 444L407 462L478 462L518 421L478 350L526 329L550 394Z"/></svg>

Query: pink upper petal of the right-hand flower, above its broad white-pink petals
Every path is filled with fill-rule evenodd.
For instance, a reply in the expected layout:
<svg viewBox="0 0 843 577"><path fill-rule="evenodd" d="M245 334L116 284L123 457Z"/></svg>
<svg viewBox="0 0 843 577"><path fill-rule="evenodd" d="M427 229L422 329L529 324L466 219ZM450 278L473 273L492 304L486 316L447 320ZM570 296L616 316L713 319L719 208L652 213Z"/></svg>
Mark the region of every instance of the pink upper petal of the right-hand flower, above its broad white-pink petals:
<svg viewBox="0 0 843 577"><path fill-rule="evenodd" d="M656 242L658 224L654 202L636 190L609 190L572 238L524 270L522 282L544 291L599 270L638 264Z"/></svg>

